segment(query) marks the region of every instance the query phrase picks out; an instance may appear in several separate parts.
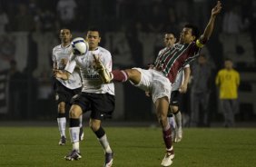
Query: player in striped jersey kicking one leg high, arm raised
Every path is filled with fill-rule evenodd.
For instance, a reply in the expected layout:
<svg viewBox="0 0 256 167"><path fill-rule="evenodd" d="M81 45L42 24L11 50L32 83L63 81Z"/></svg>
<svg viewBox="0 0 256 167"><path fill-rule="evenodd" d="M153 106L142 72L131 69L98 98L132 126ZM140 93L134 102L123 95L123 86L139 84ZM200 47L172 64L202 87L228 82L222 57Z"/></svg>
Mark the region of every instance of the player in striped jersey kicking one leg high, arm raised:
<svg viewBox="0 0 256 167"><path fill-rule="evenodd" d="M125 82L129 80L134 86L145 92L152 93L153 103L155 104L156 114L159 123L162 126L162 137L166 147L166 154L162 159L162 166L170 166L174 158L172 147L172 130L167 121L167 113L170 103L170 94L172 85L178 72L192 60L197 58L199 52L210 36L216 16L222 10L222 3L217 2L212 8L212 15L208 25L206 25L203 34L198 38L195 26L185 25L182 29L180 41L174 44L172 48L166 49L160 54L154 63L153 69L144 70L142 68L133 68L126 70L108 71L101 59L97 56L95 59L95 68L103 78L105 83L111 81Z"/></svg>

